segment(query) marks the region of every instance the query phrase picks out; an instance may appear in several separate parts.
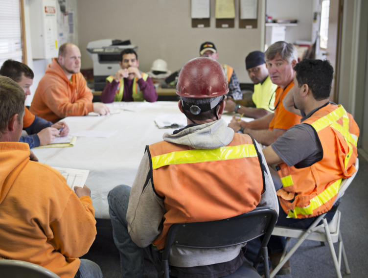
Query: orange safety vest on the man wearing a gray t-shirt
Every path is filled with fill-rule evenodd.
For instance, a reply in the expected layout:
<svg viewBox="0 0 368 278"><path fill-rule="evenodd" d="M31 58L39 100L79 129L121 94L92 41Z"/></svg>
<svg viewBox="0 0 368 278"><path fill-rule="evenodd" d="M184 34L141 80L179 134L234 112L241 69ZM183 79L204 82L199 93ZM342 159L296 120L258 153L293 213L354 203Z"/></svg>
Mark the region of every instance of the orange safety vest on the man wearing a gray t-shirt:
<svg viewBox="0 0 368 278"><path fill-rule="evenodd" d="M283 187L276 193L288 218L309 218L330 210L342 179L356 172L359 128L343 106L329 103L302 123L317 132L323 157L305 168L277 165Z"/></svg>

